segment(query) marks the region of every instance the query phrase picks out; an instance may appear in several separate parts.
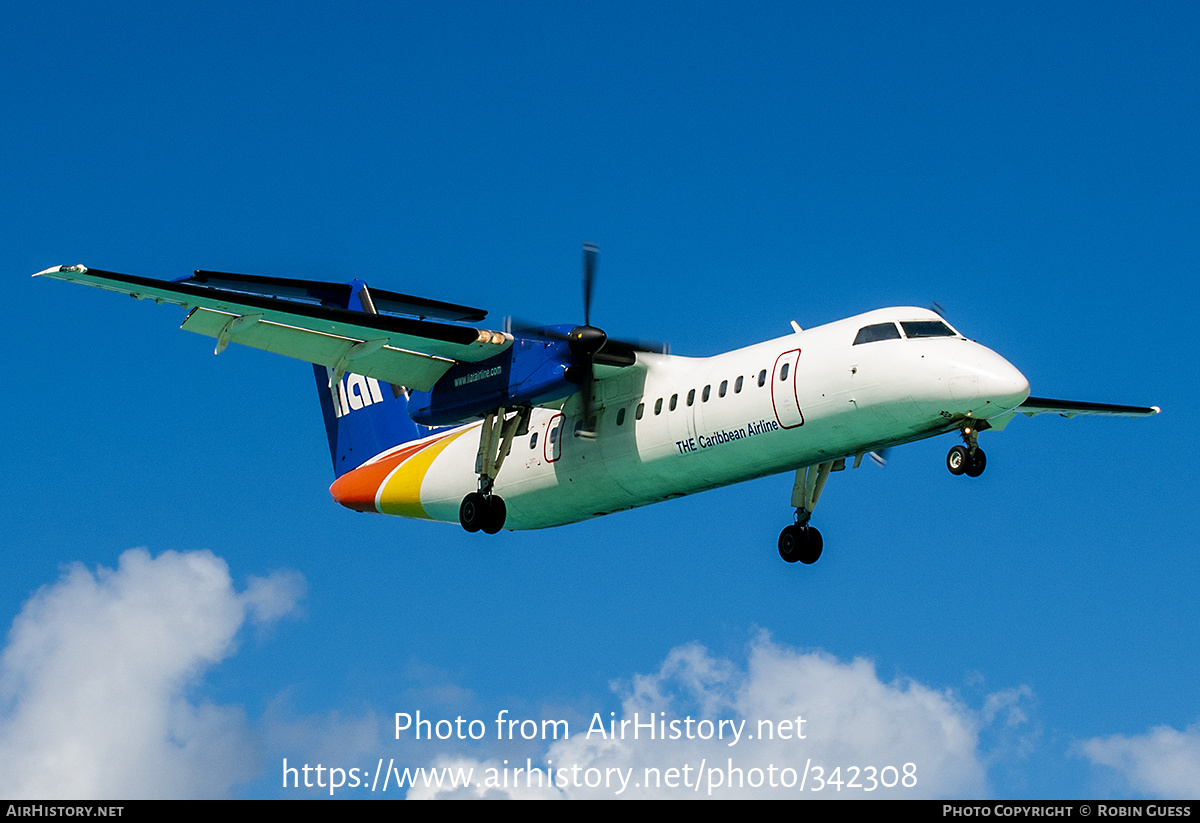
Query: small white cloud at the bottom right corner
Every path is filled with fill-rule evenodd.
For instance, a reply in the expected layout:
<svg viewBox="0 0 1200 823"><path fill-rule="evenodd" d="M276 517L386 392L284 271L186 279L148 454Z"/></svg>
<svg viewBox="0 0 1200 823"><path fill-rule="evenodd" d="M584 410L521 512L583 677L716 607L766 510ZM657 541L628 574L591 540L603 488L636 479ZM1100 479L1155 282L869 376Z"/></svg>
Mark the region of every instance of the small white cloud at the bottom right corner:
<svg viewBox="0 0 1200 823"><path fill-rule="evenodd" d="M1140 794L1200 797L1200 723L1183 732L1156 726L1136 737L1092 738L1079 749L1093 764L1116 770Z"/></svg>

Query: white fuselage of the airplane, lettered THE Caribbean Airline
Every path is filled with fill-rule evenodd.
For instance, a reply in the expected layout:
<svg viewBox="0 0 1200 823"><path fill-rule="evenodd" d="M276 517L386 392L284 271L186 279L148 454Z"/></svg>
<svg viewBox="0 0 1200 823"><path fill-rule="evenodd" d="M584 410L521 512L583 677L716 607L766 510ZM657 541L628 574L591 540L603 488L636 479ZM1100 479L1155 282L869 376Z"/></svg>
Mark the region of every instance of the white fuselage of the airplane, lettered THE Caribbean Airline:
<svg viewBox="0 0 1200 823"><path fill-rule="evenodd" d="M854 343L866 326L908 320L940 318L887 308L712 358L638 354L636 366L595 382L594 435L577 433L578 397L533 409L496 477L504 528L560 525L862 457L1010 415L1028 396L1016 368L956 334ZM458 522L478 485L479 425L430 440L440 444L432 459L418 451L379 483L377 511ZM392 475L404 480L392 488L419 489L421 511L389 511Z"/></svg>

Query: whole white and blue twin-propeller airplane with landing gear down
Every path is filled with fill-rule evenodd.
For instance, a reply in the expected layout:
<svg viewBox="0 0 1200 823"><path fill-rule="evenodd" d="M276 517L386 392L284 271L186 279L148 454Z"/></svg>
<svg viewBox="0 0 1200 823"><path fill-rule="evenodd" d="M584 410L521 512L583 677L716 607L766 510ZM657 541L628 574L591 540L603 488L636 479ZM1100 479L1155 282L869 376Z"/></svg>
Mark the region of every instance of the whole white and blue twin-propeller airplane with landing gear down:
<svg viewBox="0 0 1200 823"><path fill-rule="evenodd" d="M1016 415L1142 417L1158 407L1030 396L1028 380L940 313L880 308L710 358L610 340L583 323L496 331L487 312L348 283L197 270L163 281L82 265L35 277L187 310L182 328L313 364L330 493L361 512L542 529L796 471L780 557L812 564L811 517L848 461L958 433L950 474Z"/></svg>

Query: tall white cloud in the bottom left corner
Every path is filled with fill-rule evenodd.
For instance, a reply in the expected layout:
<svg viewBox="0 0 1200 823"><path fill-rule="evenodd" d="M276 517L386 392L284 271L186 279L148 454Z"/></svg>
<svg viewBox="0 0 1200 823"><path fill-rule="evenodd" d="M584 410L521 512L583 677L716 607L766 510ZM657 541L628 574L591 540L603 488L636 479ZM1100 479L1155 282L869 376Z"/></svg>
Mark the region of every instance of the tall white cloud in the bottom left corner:
<svg viewBox="0 0 1200 823"><path fill-rule="evenodd" d="M0 795L224 797L260 747L239 707L188 686L233 654L239 629L290 612L295 572L234 590L210 552L125 552L37 591L0 657Z"/></svg>

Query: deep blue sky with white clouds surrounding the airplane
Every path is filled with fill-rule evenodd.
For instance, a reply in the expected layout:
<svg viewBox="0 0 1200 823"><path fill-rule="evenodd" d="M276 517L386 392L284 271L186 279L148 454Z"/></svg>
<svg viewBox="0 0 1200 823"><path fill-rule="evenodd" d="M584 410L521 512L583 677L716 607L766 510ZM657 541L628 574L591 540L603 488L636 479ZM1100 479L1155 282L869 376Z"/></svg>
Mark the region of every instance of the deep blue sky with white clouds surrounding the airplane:
<svg viewBox="0 0 1200 823"><path fill-rule="evenodd" d="M914 762L908 797L1200 795L1198 24L1182 2L13 12L0 794L308 794L282 758L666 768L726 752L574 732L799 708L811 739L728 751ZM29 277L361 277L572 323L583 240L611 335L707 355L937 300L1036 395L1164 413L1016 420L974 482L949 438L836 475L812 567L775 553L786 475L488 540L334 504L302 364ZM394 739L416 709L572 740Z"/></svg>

